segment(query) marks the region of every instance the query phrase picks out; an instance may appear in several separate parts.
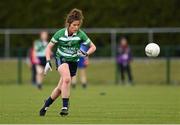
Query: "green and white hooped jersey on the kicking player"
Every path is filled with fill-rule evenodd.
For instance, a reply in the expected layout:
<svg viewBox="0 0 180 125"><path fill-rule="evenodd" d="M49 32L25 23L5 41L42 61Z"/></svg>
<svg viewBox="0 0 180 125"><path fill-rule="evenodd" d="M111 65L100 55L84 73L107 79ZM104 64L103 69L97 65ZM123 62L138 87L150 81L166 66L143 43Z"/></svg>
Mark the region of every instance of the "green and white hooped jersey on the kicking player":
<svg viewBox="0 0 180 125"><path fill-rule="evenodd" d="M79 59L77 50L80 49L80 44L89 46L91 40L80 29L72 36L68 36L67 28L63 28L54 34L51 42L56 44L56 57L63 57L66 61L76 62Z"/></svg>

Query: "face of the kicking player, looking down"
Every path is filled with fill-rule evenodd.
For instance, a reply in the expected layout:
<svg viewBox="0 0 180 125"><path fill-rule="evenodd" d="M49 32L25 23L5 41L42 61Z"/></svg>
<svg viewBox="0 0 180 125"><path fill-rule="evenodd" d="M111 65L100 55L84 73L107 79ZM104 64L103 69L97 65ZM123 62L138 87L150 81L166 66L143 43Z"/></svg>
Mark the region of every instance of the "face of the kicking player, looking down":
<svg viewBox="0 0 180 125"><path fill-rule="evenodd" d="M79 30L79 27L80 27L80 21L76 20L76 21L73 21L70 25L69 25L69 33L72 34L72 33L75 33Z"/></svg>

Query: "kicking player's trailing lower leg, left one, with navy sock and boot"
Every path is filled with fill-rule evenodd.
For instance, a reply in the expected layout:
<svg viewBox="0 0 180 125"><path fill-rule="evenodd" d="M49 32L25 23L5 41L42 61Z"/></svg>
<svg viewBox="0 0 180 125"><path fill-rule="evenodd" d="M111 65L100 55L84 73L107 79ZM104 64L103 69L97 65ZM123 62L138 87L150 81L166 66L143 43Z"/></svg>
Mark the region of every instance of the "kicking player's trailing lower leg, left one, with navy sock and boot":
<svg viewBox="0 0 180 125"><path fill-rule="evenodd" d="M41 108L39 115L45 116L49 106L61 95L62 79L59 80L57 87L52 91L51 96L45 101L44 106Z"/></svg>

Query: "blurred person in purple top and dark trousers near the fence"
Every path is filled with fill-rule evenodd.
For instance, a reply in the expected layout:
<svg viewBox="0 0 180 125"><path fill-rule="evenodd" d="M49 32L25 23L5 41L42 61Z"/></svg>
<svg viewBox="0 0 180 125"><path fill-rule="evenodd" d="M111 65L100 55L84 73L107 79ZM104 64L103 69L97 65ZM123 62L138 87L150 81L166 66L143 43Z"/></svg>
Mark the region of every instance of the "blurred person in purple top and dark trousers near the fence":
<svg viewBox="0 0 180 125"><path fill-rule="evenodd" d="M117 64L121 76L121 82L122 84L125 83L125 73L127 73L128 83L132 85L133 79L130 66L132 54L128 45L127 37L123 36L120 38L117 53Z"/></svg>

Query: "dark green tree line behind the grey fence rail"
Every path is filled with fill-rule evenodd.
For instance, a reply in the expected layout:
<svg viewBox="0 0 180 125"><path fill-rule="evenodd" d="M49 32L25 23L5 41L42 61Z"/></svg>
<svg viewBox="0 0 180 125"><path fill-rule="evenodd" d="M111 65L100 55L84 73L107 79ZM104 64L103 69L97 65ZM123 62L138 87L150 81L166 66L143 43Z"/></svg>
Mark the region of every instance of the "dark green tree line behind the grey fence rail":
<svg viewBox="0 0 180 125"><path fill-rule="evenodd" d="M180 0L2 0L0 28L62 28L73 8L83 11L83 28L105 27L179 27ZM119 34L121 35L121 34ZM123 34L124 35L124 34ZM146 35L130 35L131 44L144 44ZM37 36L12 36L13 45L28 47ZM108 48L109 36L92 36L99 46ZM177 44L178 34L155 38L161 44ZM0 36L2 46L4 38Z"/></svg>

